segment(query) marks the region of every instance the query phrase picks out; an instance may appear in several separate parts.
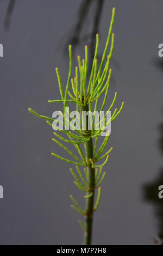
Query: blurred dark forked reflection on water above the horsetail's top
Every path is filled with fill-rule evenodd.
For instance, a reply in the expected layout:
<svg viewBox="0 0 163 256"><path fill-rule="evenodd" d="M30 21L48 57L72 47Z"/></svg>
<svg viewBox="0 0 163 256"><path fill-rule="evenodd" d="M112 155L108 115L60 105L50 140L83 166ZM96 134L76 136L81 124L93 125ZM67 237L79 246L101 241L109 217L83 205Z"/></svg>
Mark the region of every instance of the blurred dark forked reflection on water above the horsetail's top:
<svg viewBox="0 0 163 256"><path fill-rule="evenodd" d="M67 54L67 45L69 44L72 45L73 52L76 50L77 46L80 45L81 42L82 44L84 42L86 45L89 46L89 72L91 72L91 63L93 62L93 57L95 53L96 34L100 34L99 24L102 17L103 7L104 0L83 0L82 4L79 6L77 23L74 26L72 32L70 33L71 35L65 44L65 54ZM83 28L86 27L88 30L88 17L91 17L91 32L83 35ZM98 54L98 58L101 58L100 54ZM115 66L115 68L120 69L120 63L118 63L118 61L114 57L112 57L111 62ZM114 76L111 77L111 80L112 84L114 85Z"/></svg>

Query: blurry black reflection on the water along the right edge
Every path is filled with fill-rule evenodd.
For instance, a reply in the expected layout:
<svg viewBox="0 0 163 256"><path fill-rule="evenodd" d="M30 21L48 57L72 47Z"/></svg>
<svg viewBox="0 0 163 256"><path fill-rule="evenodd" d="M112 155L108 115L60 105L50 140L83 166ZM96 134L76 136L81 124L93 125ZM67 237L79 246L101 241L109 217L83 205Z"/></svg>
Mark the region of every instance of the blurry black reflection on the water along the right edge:
<svg viewBox="0 0 163 256"><path fill-rule="evenodd" d="M162 66L162 62L161 62ZM159 139L159 148L163 156L163 123L159 125L160 139ZM158 245L163 245L163 201L158 197L158 188L163 184L163 167L161 168L157 178L145 184L144 189L144 198L147 202L151 203L155 207L155 215L158 219L158 238L156 243Z"/></svg>

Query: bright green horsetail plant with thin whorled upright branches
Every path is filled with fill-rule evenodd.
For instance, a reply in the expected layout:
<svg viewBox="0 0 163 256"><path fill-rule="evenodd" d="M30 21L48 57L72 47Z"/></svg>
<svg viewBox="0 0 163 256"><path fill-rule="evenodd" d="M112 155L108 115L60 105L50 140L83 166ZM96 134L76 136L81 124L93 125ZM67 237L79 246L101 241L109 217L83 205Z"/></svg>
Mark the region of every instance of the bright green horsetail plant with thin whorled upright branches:
<svg viewBox="0 0 163 256"><path fill-rule="evenodd" d="M92 129L91 130L88 129L88 126L90 123L90 117L88 115L88 118L84 120L83 112L91 111L93 102L94 102L93 106L95 105L94 111L97 111L98 100L102 94L104 94L104 99L101 106L101 111L103 111L103 108L106 103L106 99L108 96L108 89L110 85L110 78L111 78L111 69L109 69L109 64L112 56L112 50L114 48L114 33L112 33L114 18L115 18L115 8L112 9L112 17L110 22L109 34L106 40L101 63L99 65L97 63L99 36L98 34L96 35L95 56L92 62L92 69L91 69L89 81L87 80L87 77L88 77L87 46L85 46L85 58L81 60L80 56L78 56L78 66L76 66L75 77L73 79L71 77L72 76L72 49L71 49L71 45L69 45L70 69L68 73L65 93L62 87L59 70L58 68L56 68L55 70L58 77L61 100L48 101L48 102L62 102L64 104L64 113L62 114L64 121L61 123L65 126L67 125L67 123L68 125L71 126L70 121L67 120L66 118L65 109L67 107L67 103L74 103L76 105L76 110L77 111L80 110L80 113L82 115L81 123L80 124L77 123L77 126L79 129L77 129L76 127L76 129L73 129L73 132L70 132L67 129L66 130L55 129L55 130L58 130L58 132L65 134L68 138L64 138L60 136L57 132L54 132L54 136L57 137L60 141L65 142L67 144L68 143L73 144L79 156L76 156L74 153L72 153L70 149L68 149L65 145L60 143L57 139L55 138L52 139L53 142L57 143L61 148L67 151L67 153L70 154L76 161L65 159L64 157L59 156L55 153L52 153L52 155L57 157L60 160L63 160L68 163L72 163L76 166L76 172L72 168L70 168L70 171L74 178L74 184L79 188L79 190L82 190L83 192L86 193L84 196L84 198L86 199L85 210L82 209L82 207L78 204L77 200L72 195L70 195L70 198L73 203L71 207L75 211L77 211L79 214L85 216L85 224L83 224L82 221L79 220L80 227L84 231L85 245L91 245L93 213L97 210L100 199L101 199L100 186L105 178L105 172L103 172L103 167L108 162L109 153L112 151L112 147L109 150L106 150L106 153L103 154L110 136L110 134L108 133L107 136L104 137L101 147L99 147L99 149L97 150L97 140L99 136L102 135L103 129L101 127L98 130L96 129L97 120L95 120L95 116L93 116L93 120L92 120L92 124L93 124ZM110 39L111 39L110 52L106 57L106 54L109 48ZM70 82L72 85L73 95L70 92ZM88 84L87 87L86 87L86 84ZM70 97L70 99L68 99L68 96ZM112 107L114 106L116 97L117 97L117 93L115 93L114 99L112 100L112 103L108 111L111 111ZM121 113L123 106L124 106L124 102L122 102L122 105L118 111L117 111L117 108L115 108L109 120L110 123L114 121L117 118L117 116ZM54 122L55 120L54 118L37 114L35 111L33 111L32 108L28 108L28 111L34 114L38 118L45 119L48 125L53 126L52 122ZM102 120L100 120L100 122L101 121ZM104 121L106 124L106 114L104 116ZM85 123L83 124L82 122L85 122ZM85 129L83 129L83 127L85 127ZM85 153L83 151L82 145L84 145ZM104 158L105 160L103 163L96 164L96 162L101 161ZM84 168L83 172L80 170L79 166ZM97 189L97 199L96 199L96 203L94 203L96 189Z"/></svg>

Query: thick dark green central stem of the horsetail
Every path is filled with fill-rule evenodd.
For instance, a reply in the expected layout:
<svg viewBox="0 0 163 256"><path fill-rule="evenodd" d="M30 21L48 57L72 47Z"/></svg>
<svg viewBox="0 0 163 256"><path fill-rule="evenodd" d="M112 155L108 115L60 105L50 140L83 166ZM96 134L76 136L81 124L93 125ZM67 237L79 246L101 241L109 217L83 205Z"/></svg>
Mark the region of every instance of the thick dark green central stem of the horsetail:
<svg viewBox="0 0 163 256"><path fill-rule="evenodd" d="M89 111L88 105L82 106L81 111ZM82 116L82 115L81 115ZM89 117L86 120L86 129L88 129L89 125ZM87 136L90 135L90 130L85 130L85 133L87 133ZM86 198L86 216L85 216L85 236L84 236L84 245L91 245L91 238L92 238L92 222L93 222L93 203L94 203L94 196L95 196L95 168L92 168L92 164L90 162L90 159L93 160L93 141L92 138L90 138L89 141L84 143L85 147L85 156L86 156L86 162L88 164L87 166L87 178L88 178L88 185L90 194L92 192L92 196Z"/></svg>

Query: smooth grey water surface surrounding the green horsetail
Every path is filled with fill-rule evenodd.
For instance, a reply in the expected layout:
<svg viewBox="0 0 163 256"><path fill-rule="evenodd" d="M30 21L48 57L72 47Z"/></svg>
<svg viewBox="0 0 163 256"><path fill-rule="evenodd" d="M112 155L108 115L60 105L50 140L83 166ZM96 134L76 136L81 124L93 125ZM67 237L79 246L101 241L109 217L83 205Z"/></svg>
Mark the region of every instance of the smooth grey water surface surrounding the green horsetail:
<svg viewBox="0 0 163 256"><path fill-rule="evenodd" d="M154 244L163 233L163 199L158 199L158 186L163 185L163 60L158 57L163 2L9 2L0 1L4 46L0 58L0 185L4 187L0 243L75 245L83 241L79 216L70 208L69 198L72 193L84 204L83 193L73 185L70 164L50 153L67 155L52 142L51 128L27 108L49 116L61 109L62 105L47 101L60 99L55 66L65 85L65 46L72 42L76 57L88 44L91 58L99 32L102 53L115 6L108 106L117 90L116 106L124 100L125 107L111 127L108 147L114 150L105 166L93 244Z"/></svg>

